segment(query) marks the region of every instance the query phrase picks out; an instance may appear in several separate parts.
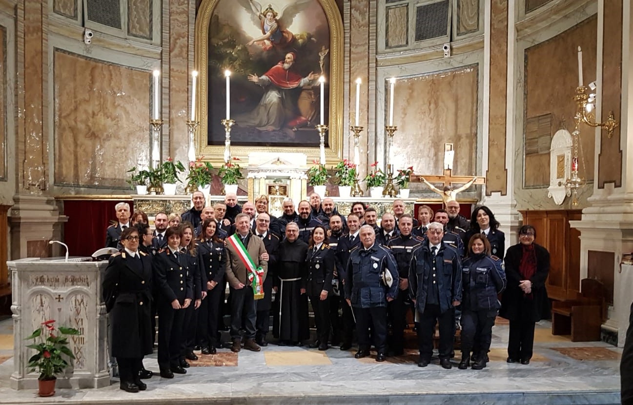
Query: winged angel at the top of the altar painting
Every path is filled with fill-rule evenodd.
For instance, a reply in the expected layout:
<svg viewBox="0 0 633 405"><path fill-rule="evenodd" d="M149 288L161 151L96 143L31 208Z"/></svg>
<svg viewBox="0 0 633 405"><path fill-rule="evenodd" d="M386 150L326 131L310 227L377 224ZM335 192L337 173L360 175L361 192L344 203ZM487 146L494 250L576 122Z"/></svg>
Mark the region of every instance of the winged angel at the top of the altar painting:
<svg viewBox="0 0 633 405"><path fill-rule="evenodd" d="M268 4L268 7L262 11L260 3L254 0L237 0L242 7L251 13L253 23L261 28L262 35L250 40L247 45L258 44L264 51L269 51L273 47L284 49L291 46L298 38L286 28L292 25L294 17L312 1L296 0L277 13L272 4Z"/></svg>

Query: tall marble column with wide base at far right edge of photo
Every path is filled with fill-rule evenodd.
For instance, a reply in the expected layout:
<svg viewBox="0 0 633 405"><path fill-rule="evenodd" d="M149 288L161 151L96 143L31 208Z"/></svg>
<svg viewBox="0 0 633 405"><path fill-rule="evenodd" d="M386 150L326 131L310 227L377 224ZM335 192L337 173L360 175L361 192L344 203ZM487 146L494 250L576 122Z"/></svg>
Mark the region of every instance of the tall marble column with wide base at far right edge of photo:
<svg viewBox="0 0 633 405"><path fill-rule="evenodd" d="M580 278L613 277L613 285L605 285L613 290L613 302L609 303L608 319L603 324L603 340L617 342L618 346L624 344L628 327L625 323L633 299L630 285L624 283L628 277L619 264L623 253L633 251L633 156L628 153L633 150L629 131L629 118L633 122L632 11L629 1L598 1L596 119L604 120L608 109L613 109L620 128L611 138L606 131L596 129L598 164L594 167L593 195L587 199L589 206L582 210L582 219L570 221L580 231ZM621 170L614 170L620 166L620 159ZM592 258L598 256L613 259L594 265Z"/></svg>

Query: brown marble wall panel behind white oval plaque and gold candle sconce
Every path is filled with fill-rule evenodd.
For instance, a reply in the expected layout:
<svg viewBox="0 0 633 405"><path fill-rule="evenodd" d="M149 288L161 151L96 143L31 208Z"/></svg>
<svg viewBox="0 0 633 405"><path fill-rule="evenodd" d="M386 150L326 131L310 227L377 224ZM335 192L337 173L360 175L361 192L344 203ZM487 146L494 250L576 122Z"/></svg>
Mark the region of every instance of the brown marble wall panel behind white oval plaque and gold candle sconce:
<svg viewBox="0 0 633 405"><path fill-rule="evenodd" d="M580 46L583 51L584 82L592 82L596 78L597 21L594 15L549 40L525 49L524 122L551 114L552 136L563 125L573 131L573 95L578 86L577 49ZM594 178L594 149L593 128L581 125L579 175L589 181ZM525 158L525 187L542 184L543 173L549 173L549 154L546 156Z"/></svg>

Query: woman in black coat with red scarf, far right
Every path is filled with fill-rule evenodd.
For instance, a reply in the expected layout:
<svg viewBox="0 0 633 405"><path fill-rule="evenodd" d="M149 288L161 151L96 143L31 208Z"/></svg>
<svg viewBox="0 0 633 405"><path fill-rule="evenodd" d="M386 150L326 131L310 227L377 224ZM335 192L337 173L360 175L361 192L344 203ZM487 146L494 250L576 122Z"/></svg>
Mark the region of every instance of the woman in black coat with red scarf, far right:
<svg viewBox="0 0 633 405"><path fill-rule="evenodd" d="M536 230L523 225L519 243L508 248L505 257L508 287L501 298L500 316L510 321L508 363L529 364L534 346L534 325L541 320L547 301L545 280L549 273L548 249L534 243Z"/></svg>

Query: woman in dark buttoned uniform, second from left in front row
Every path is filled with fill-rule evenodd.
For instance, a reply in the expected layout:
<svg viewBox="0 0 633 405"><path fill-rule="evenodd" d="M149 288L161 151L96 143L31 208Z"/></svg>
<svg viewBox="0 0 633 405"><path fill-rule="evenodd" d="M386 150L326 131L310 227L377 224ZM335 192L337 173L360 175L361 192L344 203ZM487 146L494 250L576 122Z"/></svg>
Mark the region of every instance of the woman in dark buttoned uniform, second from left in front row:
<svg viewBox="0 0 633 405"><path fill-rule="evenodd" d="M167 247L154 256L154 276L158 288L158 366L163 378L185 374L180 366L180 346L185 311L193 298L189 259L180 253L180 228L167 228Z"/></svg>

